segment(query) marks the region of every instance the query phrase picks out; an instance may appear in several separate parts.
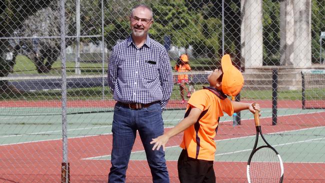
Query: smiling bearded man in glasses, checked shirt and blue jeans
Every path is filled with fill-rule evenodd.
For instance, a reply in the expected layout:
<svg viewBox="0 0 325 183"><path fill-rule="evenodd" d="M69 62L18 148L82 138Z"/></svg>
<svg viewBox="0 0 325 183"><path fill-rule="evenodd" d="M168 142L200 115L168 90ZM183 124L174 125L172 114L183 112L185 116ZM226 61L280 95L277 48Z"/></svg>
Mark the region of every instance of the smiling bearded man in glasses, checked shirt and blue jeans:
<svg viewBox="0 0 325 183"><path fill-rule="evenodd" d="M150 7L140 4L130 14L131 35L112 49L108 84L117 101L112 123L113 145L108 182L125 182L136 130L140 135L152 182L169 182L164 151L151 150L152 138L163 134L161 112L172 91L166 49L148 36Z"/></svg>

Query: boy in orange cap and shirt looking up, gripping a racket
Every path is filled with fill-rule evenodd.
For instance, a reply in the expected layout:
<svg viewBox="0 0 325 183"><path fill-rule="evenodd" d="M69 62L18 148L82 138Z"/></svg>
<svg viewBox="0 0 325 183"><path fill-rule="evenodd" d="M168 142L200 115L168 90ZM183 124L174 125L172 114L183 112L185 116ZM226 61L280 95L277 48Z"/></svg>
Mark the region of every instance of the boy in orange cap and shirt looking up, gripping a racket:
<svg viewBox="0 0 325 183"><path fill-rule="evenodd" d="M259 105L231 101L227 95L235 96L243 85L241 72L231 64L228 54L221 58L221 68L215 69L207 76L209 87L203 87L192 93L182 119L176 126L163 135L153 138L152 150L162 146L163 150L168 139L184 131L178 162L180 182L215 182L213 160L219 117L223 111L229 116L233 112L249 109L252 113L259 110Z"/></svg>

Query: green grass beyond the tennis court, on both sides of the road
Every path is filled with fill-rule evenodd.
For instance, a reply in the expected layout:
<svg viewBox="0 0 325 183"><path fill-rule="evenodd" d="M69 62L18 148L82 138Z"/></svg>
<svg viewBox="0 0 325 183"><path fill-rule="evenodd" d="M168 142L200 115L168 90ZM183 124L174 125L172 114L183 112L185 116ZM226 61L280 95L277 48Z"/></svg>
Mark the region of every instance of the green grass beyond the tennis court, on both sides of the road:
<svg viewBox="0 0 325 183"><path fill-rule="evenodd" d="M202 62L206 60L190 60L191 66L200 66ZM50 73L42 73L44 75L60 75L61 72L61 62L56 61L53 64L53 69ZM175 64L175 60L171 60L171 65ZM89 62L81 62L81 73L82 74L101 74L101 63L89 63ZM74 74L74 61L66 62L66 72L68 75ZM107 63L105 63L105 71L107 69ZM18 55L16 58L16 64L14 66L14 70L17 74L38 74L36 71L36 67L32 60L28 59L26 56ZM195 85L195 89L201 89L202 85ZM306 99L310 99L310 97L320 97L319 99L325 99L323 93L325 93L325 89L312 89L310 91L306 91ZM311 93L311 94L309 94ZM28 92L22 95L14 95L14 94L1 94L0 100L53 100L60 99L61 91L60 90L47 90L47 91L35 91ZM102 87L91 87L91 88L74 88L67 89L67 97L69 100L75 99L84 99L84 100L97 100L102 99ZM271 90L247 90L242 89L240 92L241 99L263 99L263 100L271 100L272 99L272 91ZM301 91L300 90L286 90L286 91L278 91L277 98L280 100L301 100ZM109 88L104 87L104 99L112 99L112 94L110 93ZM174 84L171 98L170 99L179 99L179 87L177 84Z"/></svg>

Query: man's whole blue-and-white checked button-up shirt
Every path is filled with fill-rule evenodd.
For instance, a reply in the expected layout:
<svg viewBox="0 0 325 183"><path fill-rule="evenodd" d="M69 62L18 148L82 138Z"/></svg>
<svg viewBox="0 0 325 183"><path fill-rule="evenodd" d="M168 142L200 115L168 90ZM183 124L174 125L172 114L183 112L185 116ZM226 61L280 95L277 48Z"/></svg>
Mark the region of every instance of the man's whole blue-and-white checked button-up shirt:
<svg viewBox="0 0 325 183"><path fill-rule="evenodd" d="M148 35L140 48L131 36L116 44L109 57L107 76L113 98L123 103L160 101L164 108L173 86L167 51Z"/></svg>

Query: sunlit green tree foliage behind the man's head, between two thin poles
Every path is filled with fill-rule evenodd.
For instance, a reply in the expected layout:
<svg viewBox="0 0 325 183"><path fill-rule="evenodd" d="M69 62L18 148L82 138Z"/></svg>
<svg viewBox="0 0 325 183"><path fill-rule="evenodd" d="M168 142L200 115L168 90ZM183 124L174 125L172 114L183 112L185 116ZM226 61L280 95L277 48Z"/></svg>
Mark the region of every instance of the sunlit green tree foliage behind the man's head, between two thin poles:
<svg viewBox="0 0 325 183"><path fill-rule="evenodd" d="M138 2L124 0L105 1L105 41L110 49L116 41L130 35L128 16ZM206 54L216 57L220 48L220 20L205 16L201 7L193 8L185 0L144 0L153 11L154 23L150 35L163 43L169 35L173 45L188 48L193 46L194 55ZM210 4L209 4L210 5ZM209 8L206 6L205 8Z"/></svg>

